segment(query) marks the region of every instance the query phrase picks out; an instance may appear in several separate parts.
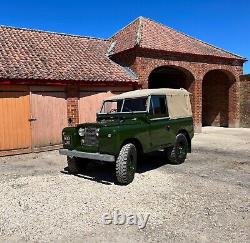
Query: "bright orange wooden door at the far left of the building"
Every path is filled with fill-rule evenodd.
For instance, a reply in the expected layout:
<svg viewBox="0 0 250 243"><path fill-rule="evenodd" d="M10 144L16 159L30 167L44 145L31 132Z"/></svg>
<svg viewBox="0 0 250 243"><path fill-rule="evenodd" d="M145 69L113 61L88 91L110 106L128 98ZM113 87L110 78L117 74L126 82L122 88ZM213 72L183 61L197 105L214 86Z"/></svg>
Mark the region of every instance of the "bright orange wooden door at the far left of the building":
<svg viewBox="0 0 250 243"><path fill-rule="evenodd" d="M0 155L30 150L29 116L28 88L0 85Z"/></svg>

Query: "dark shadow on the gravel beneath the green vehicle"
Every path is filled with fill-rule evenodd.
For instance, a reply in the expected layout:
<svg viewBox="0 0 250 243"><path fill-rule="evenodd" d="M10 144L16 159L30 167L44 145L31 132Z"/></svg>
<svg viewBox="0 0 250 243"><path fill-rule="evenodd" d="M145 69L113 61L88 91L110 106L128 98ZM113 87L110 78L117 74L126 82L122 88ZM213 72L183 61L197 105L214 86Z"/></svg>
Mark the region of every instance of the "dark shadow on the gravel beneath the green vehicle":
<svg viewBox="0 0 250 243"><path fill-rule="evenodd" d="M150 170L155 170L165 164L167 164L167 161L163 152L150 153L140 158L137 163L136 173L142 174ZM71 175L68 172L68 167L65 167L61 173ZM78 174L73 176L96 181L104 185L119 185L115 177L115 164L110 163L93 161L89 163L86 168L82 169Z"/></svg>

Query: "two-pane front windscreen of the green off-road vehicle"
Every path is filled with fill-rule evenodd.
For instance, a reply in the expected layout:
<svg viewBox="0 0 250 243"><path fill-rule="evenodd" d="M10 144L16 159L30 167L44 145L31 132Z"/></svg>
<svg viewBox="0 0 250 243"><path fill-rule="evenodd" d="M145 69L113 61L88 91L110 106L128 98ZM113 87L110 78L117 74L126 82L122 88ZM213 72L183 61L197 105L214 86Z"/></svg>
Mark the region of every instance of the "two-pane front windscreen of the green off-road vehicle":
<svg viewBox="0 0 250 243"><path fill-rule="evenodd" d="M147 97L104 101L101 113L143 112L147 110Z"/></svg>

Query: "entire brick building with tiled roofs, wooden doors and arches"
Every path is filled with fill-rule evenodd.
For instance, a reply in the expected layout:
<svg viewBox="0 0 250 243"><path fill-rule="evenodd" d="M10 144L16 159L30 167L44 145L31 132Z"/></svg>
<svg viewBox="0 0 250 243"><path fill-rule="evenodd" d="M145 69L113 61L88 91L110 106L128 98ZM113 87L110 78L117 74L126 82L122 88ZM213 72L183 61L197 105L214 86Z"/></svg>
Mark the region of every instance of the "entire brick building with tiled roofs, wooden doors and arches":
<svg viewBox="0 0 250 243"><path fill-rule="evenodd" d="M0 155L54 148L103 97L137 88L189 90L196 131L249 126L245 61L143 17L109 39L1 26Z"/></svg>

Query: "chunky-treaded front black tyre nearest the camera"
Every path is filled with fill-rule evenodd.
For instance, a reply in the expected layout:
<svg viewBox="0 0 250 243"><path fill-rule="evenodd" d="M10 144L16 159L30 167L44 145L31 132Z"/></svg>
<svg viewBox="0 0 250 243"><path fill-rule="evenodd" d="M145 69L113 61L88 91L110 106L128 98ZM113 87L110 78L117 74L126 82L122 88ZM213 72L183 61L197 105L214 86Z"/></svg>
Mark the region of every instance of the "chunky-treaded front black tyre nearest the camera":
<svg viewBox="0 0 250 243"><path fill-rule="evenodd" d="M125 144L116 160L116 179L118 183L127 185L134 180L137 165L137 150L134 144Z"/></svg>

